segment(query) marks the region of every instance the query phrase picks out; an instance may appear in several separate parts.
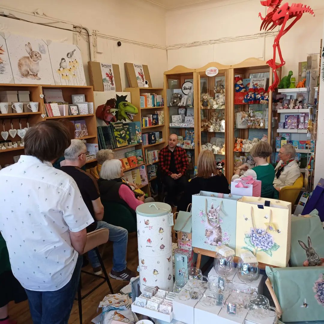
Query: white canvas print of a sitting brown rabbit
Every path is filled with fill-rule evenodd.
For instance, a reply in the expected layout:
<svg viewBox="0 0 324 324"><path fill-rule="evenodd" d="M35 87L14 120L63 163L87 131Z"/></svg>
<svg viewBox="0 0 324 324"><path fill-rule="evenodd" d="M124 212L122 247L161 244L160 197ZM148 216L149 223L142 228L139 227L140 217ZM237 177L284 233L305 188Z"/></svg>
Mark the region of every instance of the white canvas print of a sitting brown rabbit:
<svg viewBox="0 0 324 324"><path fill-rule="evenodd" d="M10 34L6 44L15 83L54 84L50 56L43 40Z"/></svg>

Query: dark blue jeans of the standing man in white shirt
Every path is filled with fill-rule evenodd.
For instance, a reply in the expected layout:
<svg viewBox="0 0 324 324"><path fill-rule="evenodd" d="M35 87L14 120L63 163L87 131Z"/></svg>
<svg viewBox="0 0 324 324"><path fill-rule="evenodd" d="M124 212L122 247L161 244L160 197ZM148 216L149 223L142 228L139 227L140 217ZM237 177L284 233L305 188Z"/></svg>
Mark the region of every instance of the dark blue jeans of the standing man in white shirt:
<svg viewBox="0 0 324 324"><path fill-rule="evenodd" d="M56 291L26 290L34 324L67 324L80 280L83 258L78 257L71 280Z"/></svg>

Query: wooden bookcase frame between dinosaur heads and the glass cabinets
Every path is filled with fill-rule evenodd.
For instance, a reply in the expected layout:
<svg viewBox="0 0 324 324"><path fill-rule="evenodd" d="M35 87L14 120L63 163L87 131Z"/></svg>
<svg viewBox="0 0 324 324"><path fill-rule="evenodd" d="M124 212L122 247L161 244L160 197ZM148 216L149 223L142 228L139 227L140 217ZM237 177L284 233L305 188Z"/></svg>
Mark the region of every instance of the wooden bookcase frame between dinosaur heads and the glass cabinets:
<svg viewBox="0 0 324 324"><path fill-rule="evenodd" d="M164 95L164 89L163 88L140 88L140 87L129 87L125 88L124 91L130 92L131 93L131 101L132 104L138 108L138 114L134 116L134 121L141 121L141 130L142 134L143 133L150 133L150 132L162 132L162 140L160 139L160 142L157 142L155 144L149 144L149 145L141 145L142 150L143 150L143 156L144 156L144 161L145 161L145 166L146 166L146 174L147 174L147 167L152 165L152 164L157 164L158 160L153 162L153 163L148 163L146 161L146 154L145 151L151 151L151 150L160 150L164 146L166 146L167 140L168 140L168 135L166 132L166 122L164 122L161 125L153 125L153 126L147 126L147 127L142 127L142 117L145 117L148 114L154 114L155 111L157 110L162 110L164 112L164 119L166 121L167 114L166 114L166 97ZM140 96L143 93L155 93L157 95L162 95L162 98L164 98L164 106L163 107L145 107L145 108L140 108ZM151 182L153 180L156 180L156 177L152 177L149 179L149 185L145 186L144 188L141 188L143 191L145 191L149 196L151 195ZM154 183L155 184L155 183Z"/></svg>

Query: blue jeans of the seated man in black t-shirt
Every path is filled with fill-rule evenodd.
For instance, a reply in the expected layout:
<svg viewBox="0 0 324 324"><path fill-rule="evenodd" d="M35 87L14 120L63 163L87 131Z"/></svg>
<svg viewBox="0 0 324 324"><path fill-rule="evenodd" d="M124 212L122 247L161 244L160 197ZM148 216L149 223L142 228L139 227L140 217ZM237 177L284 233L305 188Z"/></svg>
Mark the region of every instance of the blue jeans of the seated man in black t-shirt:
<svg viewBox="0 0 324 324"><path fill-rule="evenodd" d="M125 228L114 226L103 221L97 222L97 228L108 228L109 229L109 241L113 242L113 255L112 255L112 270L121 272L126 269L126 255L127 255L127 240L128 231ZM96 251L90 250L88 257L92 268L100 266Z"/></svg>

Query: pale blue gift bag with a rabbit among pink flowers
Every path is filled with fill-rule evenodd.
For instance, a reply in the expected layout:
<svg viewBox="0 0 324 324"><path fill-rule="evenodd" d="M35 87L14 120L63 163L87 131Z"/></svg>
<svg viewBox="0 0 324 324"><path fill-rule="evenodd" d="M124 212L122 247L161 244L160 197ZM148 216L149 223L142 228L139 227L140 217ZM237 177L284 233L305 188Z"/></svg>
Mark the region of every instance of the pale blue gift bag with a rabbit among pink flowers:
<svg viewBox="0 0 324 324"><path fill-rule="evenodd" d="M216 245L235 250L236 204L241 196L200 191L192 196L192 246L215 251Z"/></svg>

